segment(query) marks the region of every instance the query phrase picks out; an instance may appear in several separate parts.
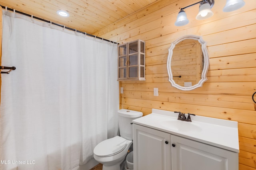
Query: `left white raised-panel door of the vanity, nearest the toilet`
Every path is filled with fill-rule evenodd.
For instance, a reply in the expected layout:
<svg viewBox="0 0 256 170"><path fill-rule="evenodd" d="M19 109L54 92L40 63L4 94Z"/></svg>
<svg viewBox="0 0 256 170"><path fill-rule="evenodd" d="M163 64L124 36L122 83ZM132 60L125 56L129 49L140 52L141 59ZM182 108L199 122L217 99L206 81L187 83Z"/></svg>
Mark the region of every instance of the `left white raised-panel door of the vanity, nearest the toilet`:
<svg viewBox="0 0 256 170"><path fill-rule="evenodd" d="M133 124L134 170L171 170L171 135Z"/></svg>

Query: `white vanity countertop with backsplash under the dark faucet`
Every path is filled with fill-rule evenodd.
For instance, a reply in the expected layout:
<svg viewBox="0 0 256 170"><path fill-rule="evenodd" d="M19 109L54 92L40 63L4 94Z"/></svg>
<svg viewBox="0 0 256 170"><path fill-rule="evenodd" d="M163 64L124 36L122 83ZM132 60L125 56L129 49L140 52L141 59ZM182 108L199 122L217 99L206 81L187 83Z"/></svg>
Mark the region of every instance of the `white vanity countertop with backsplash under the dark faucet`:
<svg viewBox="0 0 256 170"><path fill-rule="evenodd" d="M187 116L188 115L186 114L186 117ZM172 135L192 139L233 152L239 152L238 123L236 121L198 115L190 115L190 117L192 122L180 121L177 120L178 113L152 109L151 114L135 119L132 122L152 129L164 131ZM174 122L173 125L171 125L172 122ZM178 126L182 126L182 130L176 129L174 127L175 123L178 123ZM168 127L169 125L170 128Z"/></svg>

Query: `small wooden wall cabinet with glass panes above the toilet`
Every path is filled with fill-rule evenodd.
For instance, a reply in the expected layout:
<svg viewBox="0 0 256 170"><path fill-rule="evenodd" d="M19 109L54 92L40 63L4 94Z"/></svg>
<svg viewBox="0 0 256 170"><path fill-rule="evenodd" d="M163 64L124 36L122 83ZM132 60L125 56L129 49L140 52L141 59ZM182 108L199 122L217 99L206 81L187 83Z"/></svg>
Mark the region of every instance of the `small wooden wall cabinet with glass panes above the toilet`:
<svg viewBox="0 0 256 170"><path fill-rule="evenodd" d="M118 45L118 80L146 80L145 41Z"/></svg>

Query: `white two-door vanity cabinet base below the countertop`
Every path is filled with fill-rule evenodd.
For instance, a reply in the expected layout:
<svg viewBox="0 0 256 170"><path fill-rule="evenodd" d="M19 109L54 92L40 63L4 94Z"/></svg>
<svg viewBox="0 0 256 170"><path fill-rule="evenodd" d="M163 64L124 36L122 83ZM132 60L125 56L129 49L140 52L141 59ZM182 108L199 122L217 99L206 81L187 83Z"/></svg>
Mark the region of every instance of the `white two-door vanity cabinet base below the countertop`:
<svg viewBox="0 0 256 170"><path fill-rule="evenodd" d="M238 170L238 154L133 124L134 170Z"/></svg>

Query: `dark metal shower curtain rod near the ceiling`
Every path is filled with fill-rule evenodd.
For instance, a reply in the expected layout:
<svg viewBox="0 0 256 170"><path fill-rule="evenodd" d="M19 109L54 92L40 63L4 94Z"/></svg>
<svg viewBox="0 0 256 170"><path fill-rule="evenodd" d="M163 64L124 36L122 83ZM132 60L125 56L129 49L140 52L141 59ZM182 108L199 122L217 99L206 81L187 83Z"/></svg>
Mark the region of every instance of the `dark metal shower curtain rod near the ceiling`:
<svg viewBox="0 0 256 170"><path fill-rule="evenodd" d="M2 6L2 5L1 5L1 6ZM6 6L2 6L2 8L3 8L3 9L6 9L6 10L9 10L9 11L12 11L12 12L16 12L16 13L18 13L18 14L22 14L22 15L24 15L24 16L28 16L28 17L35 18L36 20L40 20L40 21L44 21L44 22L47 22L47 23L51 23L51 24L53 24L53 25L60 26L60 27L62 27L62 28L66 28L66 29L69 29L69 30L71 30L71 31L75 31L75 32L78 32L78 33L83 33L84 35L88 35L88 36L90 36L90 37L102 39L102 40L104 40L104 41L108 41L108 42L114 43L114 44L119 44L119 43L116 43L116 42L114 42L114 41L110 41L110 40L108 40L108 39L104 39L104 38L98 37L98 36L96 36L96 35L88 34L88 33L86 33L86 32L79 31L79 30L74 29L74 28L66 27L65 25L61 25L61 24L59 24L59 23L55 23L55 22L52 22L52 21L44 20L44 19L42 19L42 18L38 18L38 17L36 17L36 16L32 16L32 15L26 14L26 13L24 13L24 12L16 11L16 10L14 10L14 9L12 9L12 8L8 8L8 7L6 7Z"/></svg>

